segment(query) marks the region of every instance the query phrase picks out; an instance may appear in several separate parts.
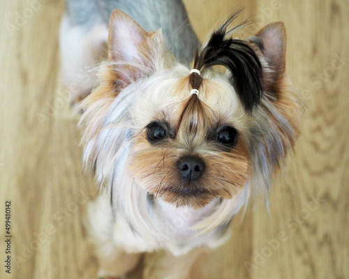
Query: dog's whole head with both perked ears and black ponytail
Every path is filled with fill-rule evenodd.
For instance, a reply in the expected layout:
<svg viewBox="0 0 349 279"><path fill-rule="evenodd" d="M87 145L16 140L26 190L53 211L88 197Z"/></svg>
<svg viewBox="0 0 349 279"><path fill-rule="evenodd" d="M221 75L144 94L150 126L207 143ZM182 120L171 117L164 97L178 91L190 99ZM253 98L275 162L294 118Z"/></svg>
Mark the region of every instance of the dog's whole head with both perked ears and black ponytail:
<svg viewBox="0 0 349 279"><path fill-rule="evenodd" d="M85 154L100 175L115 172L127 149L125 171L140 188L197 209L236 197L251 177L267 183L298 135L285 31L269 25L245 42L226 40L225 29L196 54L199 75L174 60L160 31L146 33L114 11L110 63L83 120Z"/></svg>

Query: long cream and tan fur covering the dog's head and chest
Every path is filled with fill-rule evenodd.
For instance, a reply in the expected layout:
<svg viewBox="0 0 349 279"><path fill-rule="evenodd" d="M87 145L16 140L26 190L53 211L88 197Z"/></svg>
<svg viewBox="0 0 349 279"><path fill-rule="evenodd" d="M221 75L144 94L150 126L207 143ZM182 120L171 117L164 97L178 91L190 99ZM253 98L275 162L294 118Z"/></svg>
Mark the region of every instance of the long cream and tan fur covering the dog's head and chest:
<svg viewBox="0 0 349 279"><path fill-rule="evenodd" d="M267 196L272 175L299 135L301 105L285 75L283 24L232 40L225 36L234 17L195 56L199 78L175 61L161 32L146 33L119 11L112 15L109 61L100 70L101 85L83 103L84 163L106 186L116 221L124 220L147 243L143 251L168 248L179 255L214 246L253 193ZM135 36L128 38L125 30ZM193 87L198 96L190 95ZM168 130L159 144L147 140L152 121ZM208 136L222 126L238 131L234 148ZM186 155L200 156L207 167L195 181L198 195L179 193L193 186L175 167ZM169 235L166 220L182 210L191 218Z"/></svg>

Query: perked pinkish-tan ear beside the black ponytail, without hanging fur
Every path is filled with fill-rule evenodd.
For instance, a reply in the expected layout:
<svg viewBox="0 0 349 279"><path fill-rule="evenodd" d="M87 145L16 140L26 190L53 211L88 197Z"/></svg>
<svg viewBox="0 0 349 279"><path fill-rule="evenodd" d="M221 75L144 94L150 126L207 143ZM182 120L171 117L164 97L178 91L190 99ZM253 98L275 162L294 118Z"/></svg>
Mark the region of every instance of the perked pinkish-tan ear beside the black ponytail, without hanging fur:
<svg viewBox="0 0 349 279"><path fill-rule="evenodd" d="M255 35L259 38L262 57L267 62L268 70L264 71L263 90L277 93L279 82L285 75L286 30L283 22L273 22L260 29Z"/></svg>

